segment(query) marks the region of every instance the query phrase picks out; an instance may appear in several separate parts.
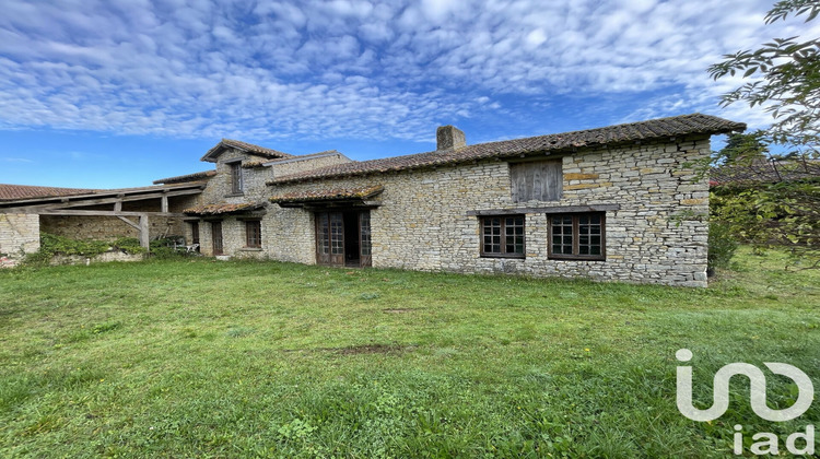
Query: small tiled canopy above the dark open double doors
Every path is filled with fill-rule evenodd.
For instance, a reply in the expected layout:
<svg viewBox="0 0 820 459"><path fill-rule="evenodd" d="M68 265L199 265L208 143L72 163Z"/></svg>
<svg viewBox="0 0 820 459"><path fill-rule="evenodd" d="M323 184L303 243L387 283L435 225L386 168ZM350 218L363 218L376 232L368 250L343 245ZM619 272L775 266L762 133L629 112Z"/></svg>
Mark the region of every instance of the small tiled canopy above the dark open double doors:
<svg viewBox="0 0 820 459"><path fill-rule="evenodd" d="M385 187L382 185L315 189L274 196L270 198L270 202L283 208L373 208L382 204L374 198L382 195L384 190Z"/></svg>

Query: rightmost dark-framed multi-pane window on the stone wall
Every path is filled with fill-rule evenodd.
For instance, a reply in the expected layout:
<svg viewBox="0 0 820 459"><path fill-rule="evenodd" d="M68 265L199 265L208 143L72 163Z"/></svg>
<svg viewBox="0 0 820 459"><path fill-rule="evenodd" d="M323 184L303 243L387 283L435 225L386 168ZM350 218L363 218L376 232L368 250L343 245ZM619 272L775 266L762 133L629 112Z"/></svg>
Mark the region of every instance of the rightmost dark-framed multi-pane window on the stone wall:
<svg viewBox="0 0 820 459"><path fill-rule="evenodd" d="M549 257L570 260L604 260L605 214L564 213L550 215Z"/></svg>

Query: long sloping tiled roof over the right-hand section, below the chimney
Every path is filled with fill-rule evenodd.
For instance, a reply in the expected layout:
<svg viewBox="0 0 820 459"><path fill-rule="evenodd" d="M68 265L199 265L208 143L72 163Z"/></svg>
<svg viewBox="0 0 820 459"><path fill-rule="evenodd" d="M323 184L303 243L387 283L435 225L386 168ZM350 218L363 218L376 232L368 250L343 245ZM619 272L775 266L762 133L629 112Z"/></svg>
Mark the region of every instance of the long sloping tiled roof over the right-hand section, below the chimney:
<svg viewBox="0 0 820 459"><path fill-rule="evenodd" d="M693 133L715 134L742 131L746 123L711 115L692 114L658 118L642 122L609 126L583 131L504 140L466 145L454 150L417 153L364 162L352 162L305 170L274 178L268 185L288 184L318 178L340 178L382 174L422 167L466 163L484 158L504 158L539 152L611 145L624 142L663 139Z"/></svg>

